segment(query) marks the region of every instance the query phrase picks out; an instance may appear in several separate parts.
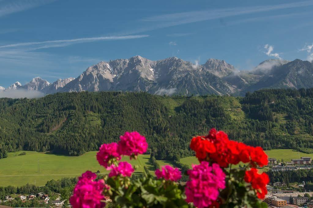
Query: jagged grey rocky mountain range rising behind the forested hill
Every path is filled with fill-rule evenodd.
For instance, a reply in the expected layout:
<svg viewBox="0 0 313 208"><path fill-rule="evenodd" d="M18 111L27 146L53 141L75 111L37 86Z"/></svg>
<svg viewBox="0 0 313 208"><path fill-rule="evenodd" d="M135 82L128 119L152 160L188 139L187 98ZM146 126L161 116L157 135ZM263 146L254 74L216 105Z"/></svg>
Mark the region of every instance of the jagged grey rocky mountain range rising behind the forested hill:
<svg viewBox="0 0 313 208"><path fill-rule="evenodd" d="M39 77L26 85L15 82L1 91L36 90L44 94L81 91L145 91L151 94L244 95L264 88L313 87L313 62L270 59L249 71L238 71L224 60L198 65L177 57L152 61L141 56L101 61L75 78L50 84Z"/></svg>

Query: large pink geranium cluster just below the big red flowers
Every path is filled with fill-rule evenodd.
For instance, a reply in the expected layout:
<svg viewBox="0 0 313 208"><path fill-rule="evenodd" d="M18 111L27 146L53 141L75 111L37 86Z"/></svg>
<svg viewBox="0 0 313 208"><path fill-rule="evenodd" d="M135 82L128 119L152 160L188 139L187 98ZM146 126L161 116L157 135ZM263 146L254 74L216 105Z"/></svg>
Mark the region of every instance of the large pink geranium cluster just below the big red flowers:
<svg viewBox="0 0 313 208"><path fill-rule="evenodd" d="M198 208L208 207L217 200L219 189L225 188L225 173L213 163L202 161L188 170L189 181L186 183L187 202L193 202Z"/></svg>

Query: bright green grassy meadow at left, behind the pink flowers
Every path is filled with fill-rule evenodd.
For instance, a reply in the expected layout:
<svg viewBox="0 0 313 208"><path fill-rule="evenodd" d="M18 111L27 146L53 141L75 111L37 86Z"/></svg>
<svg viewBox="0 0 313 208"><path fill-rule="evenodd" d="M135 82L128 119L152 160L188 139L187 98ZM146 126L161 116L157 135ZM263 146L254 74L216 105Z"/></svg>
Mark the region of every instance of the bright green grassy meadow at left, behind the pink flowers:
<svg viewBox="0 0 313 208"><path fill-rule="evenodd" d="M76 177L86 170L108 172L97 162L96 151L77 157L31 151L26 151L26 155L15 156L19 153L11 152L7 158L0 159L0 186L21 186L26 183L43 186L48 180ZM129 157L123 157L123 160L138 165L136 171L143 172L143 166L153 170L149 158L150 155L140 155L139 160L130 161Z"/></svg>

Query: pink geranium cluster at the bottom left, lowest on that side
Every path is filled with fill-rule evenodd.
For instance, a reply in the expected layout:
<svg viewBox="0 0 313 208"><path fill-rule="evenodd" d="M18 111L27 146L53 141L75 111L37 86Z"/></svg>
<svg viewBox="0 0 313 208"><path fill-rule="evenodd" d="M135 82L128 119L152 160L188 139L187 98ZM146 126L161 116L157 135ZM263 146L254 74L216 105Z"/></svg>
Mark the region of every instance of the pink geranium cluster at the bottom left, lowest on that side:
<svg viewBox="0 0 313 208"><path fill-rule="evenodd" d="M104 181L94 181L96 174L87 171L79 177L69 202L74 208L102 208L105 206L102 190Z"/></svg>

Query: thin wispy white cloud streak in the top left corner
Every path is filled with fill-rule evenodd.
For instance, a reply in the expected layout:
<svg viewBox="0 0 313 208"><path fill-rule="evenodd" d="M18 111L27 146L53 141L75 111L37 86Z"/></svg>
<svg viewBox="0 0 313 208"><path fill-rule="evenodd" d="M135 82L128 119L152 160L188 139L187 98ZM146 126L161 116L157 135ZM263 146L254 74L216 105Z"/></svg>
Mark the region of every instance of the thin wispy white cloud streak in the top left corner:
<svg viewBox="0 0 313 208"><path fill-rule="evenodd" d="M10 0L4 1L0 4L0 17L12 14L15 12L21 12L33 7L38 7L47 3L54 2L55 0Z"/></svg>

